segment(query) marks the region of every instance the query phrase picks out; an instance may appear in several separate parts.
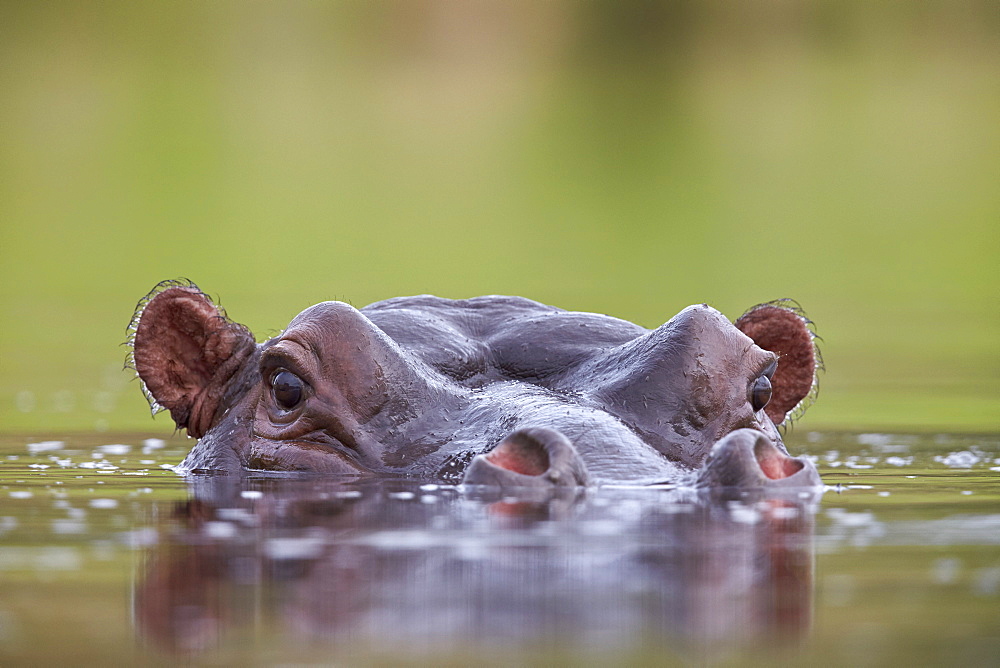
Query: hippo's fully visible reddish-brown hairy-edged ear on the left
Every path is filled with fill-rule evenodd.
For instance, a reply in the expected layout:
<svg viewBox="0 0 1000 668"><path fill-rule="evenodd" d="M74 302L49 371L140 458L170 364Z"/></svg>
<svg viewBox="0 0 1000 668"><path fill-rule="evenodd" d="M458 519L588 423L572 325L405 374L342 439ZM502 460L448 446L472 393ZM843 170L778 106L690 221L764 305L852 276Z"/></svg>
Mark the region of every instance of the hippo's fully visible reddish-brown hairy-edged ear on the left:
<svg viewBox="0 0 1000 668"><path fill-rule="evenodd" d="M129 325L131 363L153 412L164 408L200 438L229 380L256 344L194 283L164 281L139 302Z"/></svg>

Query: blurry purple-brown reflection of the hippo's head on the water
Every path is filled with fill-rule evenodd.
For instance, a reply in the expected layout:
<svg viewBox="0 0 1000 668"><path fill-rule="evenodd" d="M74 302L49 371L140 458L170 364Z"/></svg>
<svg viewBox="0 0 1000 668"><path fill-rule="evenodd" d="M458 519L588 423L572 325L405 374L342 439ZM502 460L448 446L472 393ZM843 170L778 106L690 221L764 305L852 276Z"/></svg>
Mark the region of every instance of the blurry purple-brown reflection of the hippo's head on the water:
<svg viewBox="0 0 1000 668"><path fill-rule="evenodd" d="M410 481L199 476L192 491L174 513L161 504L133 588L139 632L168 650L603 665L642 648L700 664L810 626L819 490L717 504L563 488L490 504Z"/></svg>

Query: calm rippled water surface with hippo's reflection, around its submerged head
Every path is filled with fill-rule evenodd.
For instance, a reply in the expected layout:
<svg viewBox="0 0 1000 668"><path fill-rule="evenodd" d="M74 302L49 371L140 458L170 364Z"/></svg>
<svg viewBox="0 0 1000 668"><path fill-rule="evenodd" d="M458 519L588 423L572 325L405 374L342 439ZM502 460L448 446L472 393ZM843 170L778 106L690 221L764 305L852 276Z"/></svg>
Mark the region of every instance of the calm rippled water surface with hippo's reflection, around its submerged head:
<svg viewBox="0 0 1000 668"><path fill-rule="evenodd" d="M0 438L0 663L996 665L1000 437L798 432L822 495L501 498Z"/></svg>

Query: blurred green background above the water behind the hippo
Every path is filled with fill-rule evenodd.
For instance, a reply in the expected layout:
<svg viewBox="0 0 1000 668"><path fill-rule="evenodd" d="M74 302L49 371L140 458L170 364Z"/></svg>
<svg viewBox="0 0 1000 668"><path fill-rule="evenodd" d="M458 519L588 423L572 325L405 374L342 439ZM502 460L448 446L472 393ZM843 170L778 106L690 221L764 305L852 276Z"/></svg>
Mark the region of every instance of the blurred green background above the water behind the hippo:
<svg viewBox="0 0 1000 668"><path fill-rule="evenodd" d="M0 429L169 433L119 344L189 277L656 326L794 297L800 428L1000 429L995 2L0 5Z"/></svg>

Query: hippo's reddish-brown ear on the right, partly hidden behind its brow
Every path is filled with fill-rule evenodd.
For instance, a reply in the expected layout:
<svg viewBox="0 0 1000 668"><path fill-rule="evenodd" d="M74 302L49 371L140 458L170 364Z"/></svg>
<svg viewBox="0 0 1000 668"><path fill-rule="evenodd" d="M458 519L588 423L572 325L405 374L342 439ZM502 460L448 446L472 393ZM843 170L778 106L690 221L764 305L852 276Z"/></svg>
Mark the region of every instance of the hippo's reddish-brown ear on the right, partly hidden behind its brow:
<svg viewBox="0 0 1000 668"><path fill-rule="evenodd" d="M778 355L767 416L781 424L789 412L804 411L815 398L816 371L822 368L812 321L794 301L780 299L754 306L735 324L758 346Z"/></svg>

